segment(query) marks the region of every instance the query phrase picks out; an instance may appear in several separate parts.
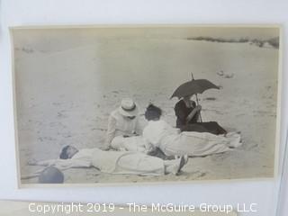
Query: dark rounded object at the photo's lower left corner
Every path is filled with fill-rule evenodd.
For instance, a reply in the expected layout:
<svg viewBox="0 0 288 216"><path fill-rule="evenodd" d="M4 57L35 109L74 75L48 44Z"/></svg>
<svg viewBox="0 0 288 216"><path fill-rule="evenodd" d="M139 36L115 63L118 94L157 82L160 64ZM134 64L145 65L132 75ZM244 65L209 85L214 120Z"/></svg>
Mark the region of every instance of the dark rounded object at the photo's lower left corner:
<svg viewBox="0 0 288 216"><path fill-rule="evenodd" d="M64 182L63 173L55 166L45 168L38 178L40 184L62 184Z"/></svg>

